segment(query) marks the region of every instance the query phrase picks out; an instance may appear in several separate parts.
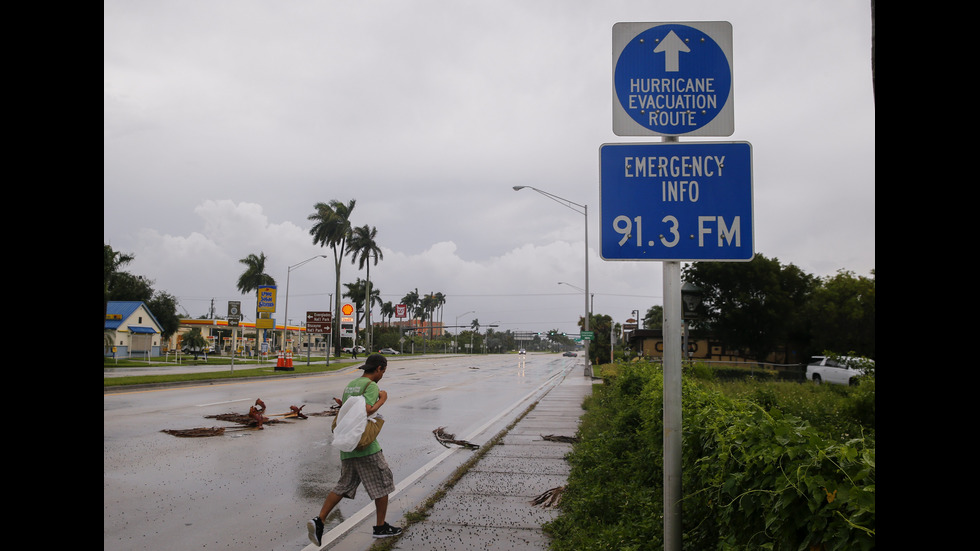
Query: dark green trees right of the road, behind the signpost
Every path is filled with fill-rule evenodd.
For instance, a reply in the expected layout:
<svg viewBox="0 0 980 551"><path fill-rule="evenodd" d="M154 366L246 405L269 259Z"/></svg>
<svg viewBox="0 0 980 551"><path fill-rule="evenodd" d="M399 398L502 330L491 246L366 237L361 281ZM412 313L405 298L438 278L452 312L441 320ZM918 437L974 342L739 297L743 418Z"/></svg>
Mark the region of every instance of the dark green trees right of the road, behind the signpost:
<svg viewBox="0 0 980 551"><path fill-rule="evenodd" d="M683 279L700 291L691 320L694 337L757 361L780 350L786 361L803 361L827 350L875 358L874 270L870 276L840 270L817 277L757 254L749 262L689 264ZM663 306L651 306L643 321L646 329L662 328ZM592 314L593 362L609 361L612 324L609 316Z"/></svg>

